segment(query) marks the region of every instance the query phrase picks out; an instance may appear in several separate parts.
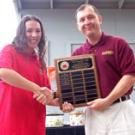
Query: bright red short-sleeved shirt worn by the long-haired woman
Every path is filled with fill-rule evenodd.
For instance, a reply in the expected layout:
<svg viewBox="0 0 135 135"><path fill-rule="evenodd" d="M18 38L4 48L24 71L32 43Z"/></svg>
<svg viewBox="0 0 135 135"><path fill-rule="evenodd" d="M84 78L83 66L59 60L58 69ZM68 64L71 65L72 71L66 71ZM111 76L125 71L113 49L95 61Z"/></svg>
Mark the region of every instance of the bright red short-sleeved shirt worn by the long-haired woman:
<svg viewBox="0 0 135 135"><path fill-rule="evenodd" d="M0 67L13 69L39 86L50 87L35 54L18 52L12 45L0 53ZM0 81L0 135L45 135L46 108L33 93Z"/></svg>

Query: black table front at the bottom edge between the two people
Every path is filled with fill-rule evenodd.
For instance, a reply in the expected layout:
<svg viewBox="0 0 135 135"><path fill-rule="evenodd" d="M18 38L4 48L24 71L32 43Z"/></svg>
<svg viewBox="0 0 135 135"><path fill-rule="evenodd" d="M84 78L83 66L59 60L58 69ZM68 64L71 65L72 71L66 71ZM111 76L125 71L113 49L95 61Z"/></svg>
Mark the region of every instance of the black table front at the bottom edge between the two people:
<svg viewBox="0 0 135 135"><path fill-rule="evenodd" d="M46 135L85 135L84 126L47 127Z"/></svg>

